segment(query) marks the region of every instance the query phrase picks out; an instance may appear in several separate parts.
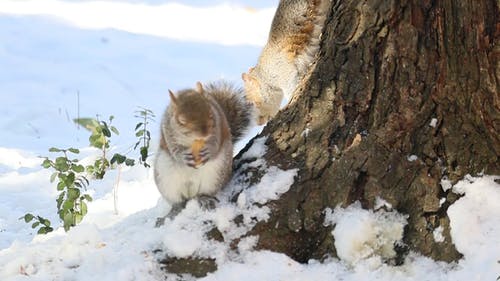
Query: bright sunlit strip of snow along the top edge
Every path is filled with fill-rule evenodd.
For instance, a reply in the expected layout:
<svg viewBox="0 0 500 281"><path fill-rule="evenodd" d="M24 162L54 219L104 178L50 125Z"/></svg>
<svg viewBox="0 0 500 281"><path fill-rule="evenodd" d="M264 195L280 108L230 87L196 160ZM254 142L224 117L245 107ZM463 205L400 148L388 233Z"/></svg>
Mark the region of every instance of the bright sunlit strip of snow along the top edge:
<svg viewBox="0 0 500 281"><path fill-rule="evenodd" d="M88 1L82 5L60 0L3 0L0 13L55 16L83 29L117 29L183 41L260 46L267 40L267 32L262 30L269 27L274 8L253 10L227 3L194 7L179 3ZM181 28L168 28L174 26Z"/></svg>

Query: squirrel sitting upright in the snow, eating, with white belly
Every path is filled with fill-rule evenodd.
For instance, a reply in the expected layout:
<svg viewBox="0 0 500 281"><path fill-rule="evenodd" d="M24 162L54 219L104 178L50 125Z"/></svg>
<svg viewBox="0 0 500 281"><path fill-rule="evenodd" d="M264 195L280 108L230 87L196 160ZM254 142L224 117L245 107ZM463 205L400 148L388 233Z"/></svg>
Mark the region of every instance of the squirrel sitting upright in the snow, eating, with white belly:
<svg viewBox="0 0 500 281"><path fill-rule="evenodd" d="M241 89L226 83L169 92L154 174L161 195L174 205L214 195L228 183L233 143L250 126L254 109Z"/></svg>

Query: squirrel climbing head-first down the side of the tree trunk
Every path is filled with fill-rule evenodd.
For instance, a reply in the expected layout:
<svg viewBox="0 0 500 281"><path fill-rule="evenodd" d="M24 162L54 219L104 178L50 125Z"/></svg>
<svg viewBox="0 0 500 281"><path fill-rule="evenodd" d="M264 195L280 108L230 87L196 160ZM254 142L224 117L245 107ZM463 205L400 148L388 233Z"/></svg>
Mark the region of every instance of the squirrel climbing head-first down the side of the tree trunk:
<svg viewBox="0 0 500 281"><path fill-rule="evenodd" d="M281 0L257 65L242 74L247 98L262 125L292 97L319 50L330 0Z"/></svg>

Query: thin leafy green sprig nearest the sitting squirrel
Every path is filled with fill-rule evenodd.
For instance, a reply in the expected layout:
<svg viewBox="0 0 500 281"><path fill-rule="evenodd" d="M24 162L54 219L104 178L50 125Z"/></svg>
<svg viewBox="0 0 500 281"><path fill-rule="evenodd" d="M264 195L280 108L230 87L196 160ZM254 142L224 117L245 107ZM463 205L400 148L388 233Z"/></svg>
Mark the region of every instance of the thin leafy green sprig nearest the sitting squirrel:
<svg viewBox="0 0 500 281"><path fill-rule="evenodd" d="M154 118L156 117L153 111L140 107L140 110L136 111L136 118L141 119L141 122L137 123L135 126L135 136L139 138L139 140L134 145L134 150L137 149L139 145L139 163L144 165L144 167L149 168L150 165L146 162L149 156L149 143L151 141L151 133L148 130L148 125L150 122L154 122Z"/></svg>

